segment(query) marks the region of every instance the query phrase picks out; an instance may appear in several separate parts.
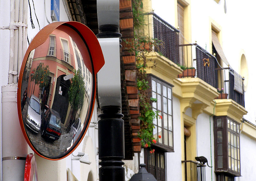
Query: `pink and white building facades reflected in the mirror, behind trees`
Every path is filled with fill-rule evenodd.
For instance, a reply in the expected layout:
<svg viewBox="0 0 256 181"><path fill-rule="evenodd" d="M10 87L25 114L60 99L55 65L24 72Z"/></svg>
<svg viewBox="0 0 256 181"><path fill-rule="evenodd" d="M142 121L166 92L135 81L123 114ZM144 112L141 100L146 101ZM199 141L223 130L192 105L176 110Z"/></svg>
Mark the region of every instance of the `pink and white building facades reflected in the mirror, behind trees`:
<svg viewBox="0 0 256 181"><path fill-rule="evenodd" d="M34 81L31 81L33 71L40 62L44 63L44 66L48 65L50 71L48 85L42 89L39 88L39 84L35 85ZM68 126L72 116L71 105L68 101L68 91L73 76L70 76L68 80L64 80L64 77L70 74L74 75L76 70L79 70L83 76L85 96L83 107L76 112L75 119L80 117L84 120L91 96L92 76L84 64L83 56L75 40L67 33L60 29L55 29L42 45L30 52L24 70L23 81L28 83L28 98L34 94L41 100L42 104L45 91L45 105L59 112L61 123L64 126Z"/></svg>

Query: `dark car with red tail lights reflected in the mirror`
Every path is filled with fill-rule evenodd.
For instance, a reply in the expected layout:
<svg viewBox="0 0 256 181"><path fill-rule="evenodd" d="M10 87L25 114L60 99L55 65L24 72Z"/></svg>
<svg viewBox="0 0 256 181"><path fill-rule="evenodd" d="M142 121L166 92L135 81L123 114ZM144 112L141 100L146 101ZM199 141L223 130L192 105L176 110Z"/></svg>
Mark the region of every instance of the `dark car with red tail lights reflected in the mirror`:
<svg viewBox="0 0 256 181"><path fill-rule="evenodd" d="M61 119L60 114L49 108L42 114L43 131L42 136L51 140L58 140L61 135Z"/></svg>

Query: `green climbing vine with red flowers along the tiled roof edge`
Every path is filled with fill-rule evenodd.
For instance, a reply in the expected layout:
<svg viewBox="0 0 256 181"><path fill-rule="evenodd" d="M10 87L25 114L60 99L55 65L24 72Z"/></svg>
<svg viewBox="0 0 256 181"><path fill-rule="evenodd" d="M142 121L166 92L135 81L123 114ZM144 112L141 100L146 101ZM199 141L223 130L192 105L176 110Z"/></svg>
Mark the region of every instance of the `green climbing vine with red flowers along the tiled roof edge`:
<svg viewBox="0 0 256 181"><path fill-rule="evenodd" d="M131 51L135 51L136 69L137 69L137 88L139 90L140 99L140 131L138 137L142 147L150 148L152 143L156 143L161 136L153 137L154 124L153 120L157 119L158 112L152 110L151 103L156 102L156 98L150 97L150 85L146 70L156 66L156 63L148 58L148 54L159 50L163 45L161 41L150 38L144 33L146 23L144 21L145 12L143 11L142 0L132 0L133 22L134 22L134 47ZM160 52L160 51L158 51ZM149 63L150 62L150 63ZM148 66L150 64L150 66ZM151 149L153 153L155 150Z"/></svg>

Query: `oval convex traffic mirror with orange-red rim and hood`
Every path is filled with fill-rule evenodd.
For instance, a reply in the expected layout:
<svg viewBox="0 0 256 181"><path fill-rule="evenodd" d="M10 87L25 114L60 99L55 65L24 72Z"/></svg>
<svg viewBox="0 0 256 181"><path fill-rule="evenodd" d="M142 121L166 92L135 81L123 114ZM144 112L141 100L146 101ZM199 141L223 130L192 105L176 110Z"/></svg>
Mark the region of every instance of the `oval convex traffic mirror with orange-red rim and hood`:
<svg viewBox="0 0 256 181"><path fill-rule="evenodd" d="M58 160L81 142L103 64L96 36L78 22L47 25L31 41L21 65L17 104L22 132L36 154Z"/></svg>

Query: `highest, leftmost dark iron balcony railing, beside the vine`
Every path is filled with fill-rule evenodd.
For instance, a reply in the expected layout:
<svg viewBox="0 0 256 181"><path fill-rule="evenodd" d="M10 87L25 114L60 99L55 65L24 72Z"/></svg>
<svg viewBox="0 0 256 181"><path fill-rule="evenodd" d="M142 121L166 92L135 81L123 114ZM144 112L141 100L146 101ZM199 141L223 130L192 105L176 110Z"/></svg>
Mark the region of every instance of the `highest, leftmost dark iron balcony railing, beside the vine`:
<svg viewBox="0 0 256 181"><path fill-rule="evenodd" d="M150 14L148 14L149 16ZM158 53L163 54L166 58L174 63L180 63L179 59L179 30L172 25L164 21L162 18L154 13L153 15L153 32L154 38L161 40L164 46L159 47L159 50L155 50Z"/></svg>

